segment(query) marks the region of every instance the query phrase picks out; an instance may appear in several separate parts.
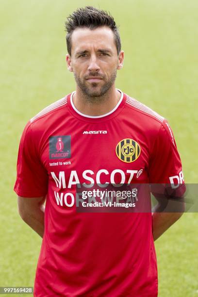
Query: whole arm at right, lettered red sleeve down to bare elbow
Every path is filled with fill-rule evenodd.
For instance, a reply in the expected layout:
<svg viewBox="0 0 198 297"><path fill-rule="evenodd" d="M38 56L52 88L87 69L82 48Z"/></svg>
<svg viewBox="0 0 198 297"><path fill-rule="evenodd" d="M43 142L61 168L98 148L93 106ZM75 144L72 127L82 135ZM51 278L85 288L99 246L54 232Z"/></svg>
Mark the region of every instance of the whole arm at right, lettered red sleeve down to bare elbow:
<svg viewBox="0 0 198 297"><path fill-rule="evenodd" d="M152 215L153 238L156 240L184 212L184 203L182 203L181 199L185 192L184 188L180 191L181 185L184 185L181 159L173 132L166 119L164 119L157 132L150 153L148 177L149 183L152 185L151 193L157 200L160 199L160 203L156 206ZM176 192L175 188L173 191L171 186L171 178L173 177L178 177L178 186L180 185ZM157 194L157 197L155 194Z"/></svg>

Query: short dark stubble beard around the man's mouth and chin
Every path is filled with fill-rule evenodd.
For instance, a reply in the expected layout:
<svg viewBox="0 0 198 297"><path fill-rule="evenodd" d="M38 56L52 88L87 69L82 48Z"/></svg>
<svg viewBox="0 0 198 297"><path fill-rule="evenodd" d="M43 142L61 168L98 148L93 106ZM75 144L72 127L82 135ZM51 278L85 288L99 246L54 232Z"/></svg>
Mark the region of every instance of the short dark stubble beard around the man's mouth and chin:
<svg viewBox="0 0 198 297"><path fill-rule="evenodd" d="M85 76L84 78L80 78L75 72L74 72L74 78L78 85L78 87L81 89L84 99L88 102L92 103L101 103L106 99L106 96L104 96L109 89L112 87L112 85L115 82L116 79L117 70L115 69L108 80L106 80L105 76L99 75L96 72L90 73L89 76ZM94 77L99 76L102 78L101 82L103 84L99 86L101 82L88 82L88 77Z"/></svg>

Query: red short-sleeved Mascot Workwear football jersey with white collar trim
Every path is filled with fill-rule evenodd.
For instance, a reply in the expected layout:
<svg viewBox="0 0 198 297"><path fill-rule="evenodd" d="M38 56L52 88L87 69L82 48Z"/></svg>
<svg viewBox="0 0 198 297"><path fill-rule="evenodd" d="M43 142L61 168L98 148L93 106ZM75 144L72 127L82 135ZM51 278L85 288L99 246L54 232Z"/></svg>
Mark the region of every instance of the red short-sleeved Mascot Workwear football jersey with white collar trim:
<svg viewBox="0 0 198 297"><path fill-rule="evenodd" d="M35 115L19 146L14 190L47 197L34 296L155 297L152 214L78 213L74 198L81 183L183 182L173 132L121 91L100 116L81 114L73 93Z"/></svg>

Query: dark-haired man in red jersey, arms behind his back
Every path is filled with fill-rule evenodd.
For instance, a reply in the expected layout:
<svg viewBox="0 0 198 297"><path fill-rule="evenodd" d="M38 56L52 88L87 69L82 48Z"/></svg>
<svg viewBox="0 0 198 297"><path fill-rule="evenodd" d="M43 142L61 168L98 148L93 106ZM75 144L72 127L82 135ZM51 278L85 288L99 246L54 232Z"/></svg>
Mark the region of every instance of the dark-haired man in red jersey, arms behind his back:
<svg viewBox="0 0 198 297"><path fill-rule="evenodd" d="M157 296L153 241L181 214L83 213L74 198L81 183L183 182L173 133L115 88L124 52L112 16L81 8L66 30L76 91L27 123L18 152L19 214L43 237L34 296Z"/></svg>

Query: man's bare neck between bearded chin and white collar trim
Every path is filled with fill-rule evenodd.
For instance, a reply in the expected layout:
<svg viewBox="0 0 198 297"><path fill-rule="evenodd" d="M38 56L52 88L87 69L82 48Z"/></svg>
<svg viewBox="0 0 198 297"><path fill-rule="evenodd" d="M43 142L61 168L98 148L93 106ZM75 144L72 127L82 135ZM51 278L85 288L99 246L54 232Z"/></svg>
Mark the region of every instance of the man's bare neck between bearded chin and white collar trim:
<svg viewBox="0 0 198 297"><path fill-rule="evenodd" d="M84 115L105 115L113 110L119 101L121 94L114 88L110 88L102 97L88 100L81 89L76 88L72 100L76 109Z"/></svg>

